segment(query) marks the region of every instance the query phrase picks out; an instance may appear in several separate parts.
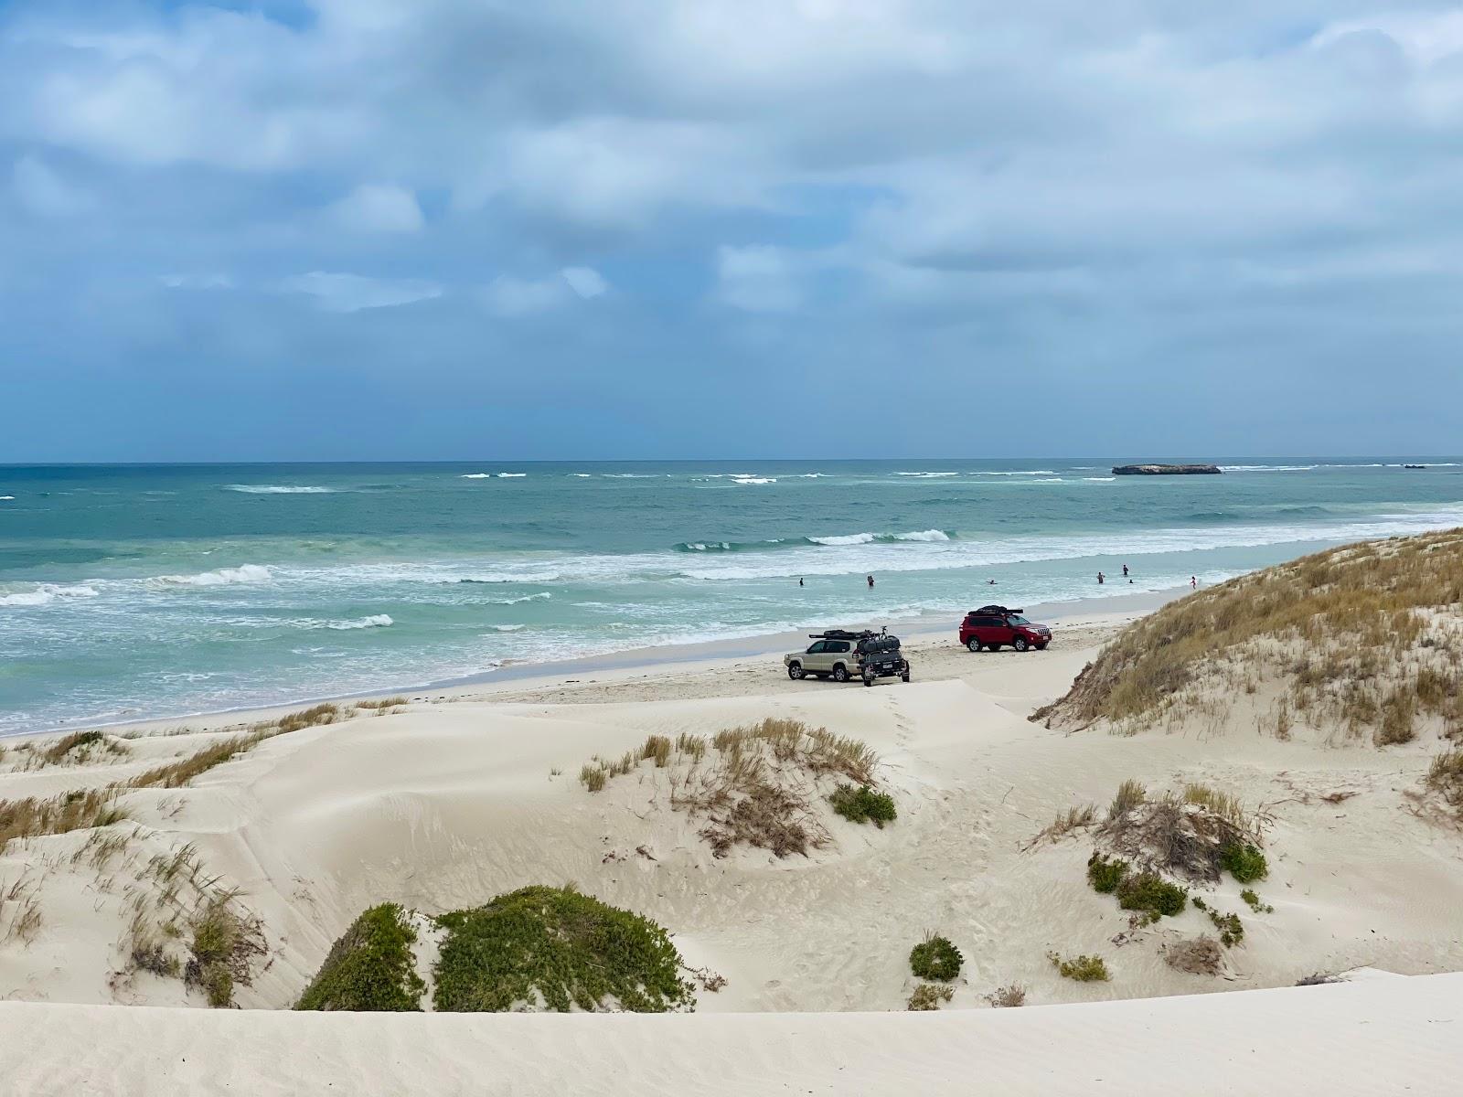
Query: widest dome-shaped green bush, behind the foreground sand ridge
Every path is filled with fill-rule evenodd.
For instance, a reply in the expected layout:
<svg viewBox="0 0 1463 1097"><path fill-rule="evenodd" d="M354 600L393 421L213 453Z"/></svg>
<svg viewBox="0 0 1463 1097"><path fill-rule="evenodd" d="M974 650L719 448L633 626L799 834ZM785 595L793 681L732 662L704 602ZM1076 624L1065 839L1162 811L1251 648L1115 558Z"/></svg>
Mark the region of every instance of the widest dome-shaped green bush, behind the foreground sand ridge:
<svg viewBox="0 0 1463 1097"><path fill-rule="evenodd" d="M693 1005L654 921L569 888L530 886L442 914L435 1003L451 1012L537 1006L666 1012Z"/></svg>

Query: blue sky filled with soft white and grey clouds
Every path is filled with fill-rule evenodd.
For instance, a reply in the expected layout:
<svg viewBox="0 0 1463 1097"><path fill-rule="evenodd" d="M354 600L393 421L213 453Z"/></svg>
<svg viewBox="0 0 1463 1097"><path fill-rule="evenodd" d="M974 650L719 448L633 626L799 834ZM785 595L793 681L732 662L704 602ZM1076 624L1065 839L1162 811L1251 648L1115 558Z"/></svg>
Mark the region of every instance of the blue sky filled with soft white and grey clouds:
<svg viewBox="0 0 1463 1097"><path fill-rule="evenodd" d="M0 0L0 462L1463 451L1463 9Z"/></svg>

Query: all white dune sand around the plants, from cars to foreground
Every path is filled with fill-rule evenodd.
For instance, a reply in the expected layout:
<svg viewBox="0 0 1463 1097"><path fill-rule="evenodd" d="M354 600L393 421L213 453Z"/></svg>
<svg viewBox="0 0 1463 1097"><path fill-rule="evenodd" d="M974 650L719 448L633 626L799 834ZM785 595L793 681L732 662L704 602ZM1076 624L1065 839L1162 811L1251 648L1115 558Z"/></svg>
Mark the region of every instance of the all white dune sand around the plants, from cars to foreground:
<svg viewBox="0 0 1463 1097"><path fill-rule="evenodd" d="M550 692L459 689L398 715L279 736L184 790L130 793L124 804L142 829L99 869L72 862L85 834L13 842L0 857L0 889L25 879L42 913L29 943L0 943L0 998L16 1002L0 1006L6 1077L16 1093L86 1091L82 1079L99 1093L225 1081L313 1091L326 1079L345 1093L456 1093L486 1077L503 1093L879 1093L910 1082L969 1091L971 1077L1015 1093L1249 1093L1235 1065L1263 1062L1264 1088L1279 1091L1320 1078L1328 1093L1385 1091L1399 1078L1443 1091L1437 1082L1450 1075L1440 1071L1463 1066L1460 977L988 1008L983 996L1008 983L1048 1005L1289 986L1358 967L1463 968L1463 840L1406 799L1423 747L1280 743L1238 725L1131 739L1048 731L1024 717L1062 693L1110 632L1110 622L1084 620L1048 652L911 645L909 686L793 683L759 660L622 671ZM711 733L767 715L869 742L898 822L875 831L825 812L835 842L808 859L752 850L717 860L696 823L669 810L664 774L648 762L600 794L575 780L591 755L616 756L648 733ZM133 740L135 755L116 765L0 772L0 799L117 780L234 720ZM1227 878L1206 891L1246 927L1220 977L1178 973L1159 952L1207 930L1200 911L1125 933L1116 902L1086 883L1090 840L1023 851L1058 812L1106 804L1129 777L1151 788L1207 781L1271 818L1271 872L1257 886L1274 913L1251 914ZM1356 794L1320 799L1331 791ZM268 968L236 995L255 1012L110 1005L200 1005L176 979L110 979L121 967L129 883L183 842L196 845L203 872L243 888L263 920ZM367 905L430 913L569 881L664 924L686 962L723 974L726 989L702 993L689 1018L268 1012L298 996ZM0 935L12 910L0 907ZM916 986L909 949L925 929L966 955L944 1015L837 1012L903 1011ZM1113 979L1064 980L1049 949L1102 954ZM715 1017L727 1011L739 1015ZM1056 1040L1065 1059L1052 1053ZM20 1066L4 1052L15 1047L26 1049ZM190 1090L195 1081L202 1090Z"/></svg>

